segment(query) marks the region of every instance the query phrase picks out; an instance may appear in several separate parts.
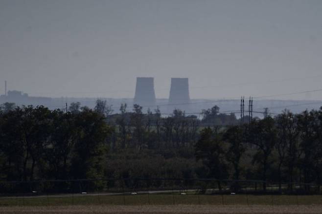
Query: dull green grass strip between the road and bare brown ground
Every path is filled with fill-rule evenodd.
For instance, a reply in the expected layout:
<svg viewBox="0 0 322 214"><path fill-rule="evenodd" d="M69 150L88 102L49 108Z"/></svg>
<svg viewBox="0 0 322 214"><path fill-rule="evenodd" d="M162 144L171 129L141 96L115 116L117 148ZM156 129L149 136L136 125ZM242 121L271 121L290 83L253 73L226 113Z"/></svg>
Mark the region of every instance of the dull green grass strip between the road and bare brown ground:
<svg viewBox="0 0 322 214"><path fill-rule="evenodd" d="M68 205L322 205L322 195L120 194L0 197L0 207Z"/></svg>

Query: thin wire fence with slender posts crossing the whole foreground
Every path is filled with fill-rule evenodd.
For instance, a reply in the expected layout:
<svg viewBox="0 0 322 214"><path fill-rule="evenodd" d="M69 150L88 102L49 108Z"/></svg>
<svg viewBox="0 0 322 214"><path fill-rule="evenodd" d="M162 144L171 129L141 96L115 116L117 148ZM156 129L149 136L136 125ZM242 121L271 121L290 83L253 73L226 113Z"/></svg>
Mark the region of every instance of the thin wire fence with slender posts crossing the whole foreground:
<svg viewBox="0 0 322 214"><path fill-rule="evenodd" d="M0 182L0 206L322 204L320 185L259 180L84 179Z"/></svg>

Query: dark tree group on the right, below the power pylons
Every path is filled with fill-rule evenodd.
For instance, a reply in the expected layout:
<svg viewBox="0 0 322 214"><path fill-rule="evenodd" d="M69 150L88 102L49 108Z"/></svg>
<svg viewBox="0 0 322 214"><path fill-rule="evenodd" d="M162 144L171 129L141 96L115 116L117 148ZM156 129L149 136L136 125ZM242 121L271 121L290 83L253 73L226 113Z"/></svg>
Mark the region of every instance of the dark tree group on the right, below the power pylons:
<svg viewBox="0 0 322 214"><path fill-rule="evenodd" d="M255 118L250 124L225 130L204 128L196 158L217 179L259 179L321 184L322 108L276 117ZM265 183L263 184L265 190Z"/></svg>

